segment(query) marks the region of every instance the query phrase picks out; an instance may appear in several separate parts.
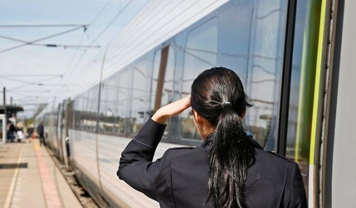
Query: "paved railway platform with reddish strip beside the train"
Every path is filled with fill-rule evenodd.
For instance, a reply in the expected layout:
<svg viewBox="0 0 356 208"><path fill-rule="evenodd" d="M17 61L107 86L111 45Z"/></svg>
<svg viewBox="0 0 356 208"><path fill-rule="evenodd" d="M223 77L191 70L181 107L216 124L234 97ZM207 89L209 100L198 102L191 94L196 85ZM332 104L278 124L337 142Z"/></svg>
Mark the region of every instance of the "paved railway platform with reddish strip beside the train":
<svg viewBox="0 0 356 208"><path fill-rule="evenodd" d="M82 207L38 140L0 144L0 207Z"/></svg>

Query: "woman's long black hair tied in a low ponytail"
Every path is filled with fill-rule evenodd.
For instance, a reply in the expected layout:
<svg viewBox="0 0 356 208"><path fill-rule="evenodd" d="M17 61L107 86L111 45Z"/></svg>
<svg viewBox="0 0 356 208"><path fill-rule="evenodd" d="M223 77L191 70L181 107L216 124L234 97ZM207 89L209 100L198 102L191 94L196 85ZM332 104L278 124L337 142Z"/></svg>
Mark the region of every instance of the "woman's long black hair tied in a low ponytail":
<svg viewBox="0 0 356 208"><path fill-rule="evenodd" d="M241 117L252 105L240 78L224 67L205 70L192 84L191 106L215 126L207 150L209 197L216 207L246 207L244 185L254 149Z"/></svg>

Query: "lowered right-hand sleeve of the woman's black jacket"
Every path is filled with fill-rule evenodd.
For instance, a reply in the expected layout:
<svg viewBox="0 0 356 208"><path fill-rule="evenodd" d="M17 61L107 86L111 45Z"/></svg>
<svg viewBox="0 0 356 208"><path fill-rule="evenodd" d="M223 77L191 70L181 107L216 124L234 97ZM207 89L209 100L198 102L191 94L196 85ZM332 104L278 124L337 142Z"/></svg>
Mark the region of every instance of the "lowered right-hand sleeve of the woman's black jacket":
<svg viewBox="0 0 356 208"><path fill-rule="evenodd" d="M290 180L290 203L289 207L308 207L304 183L298 164L294 163Z"/></svg>

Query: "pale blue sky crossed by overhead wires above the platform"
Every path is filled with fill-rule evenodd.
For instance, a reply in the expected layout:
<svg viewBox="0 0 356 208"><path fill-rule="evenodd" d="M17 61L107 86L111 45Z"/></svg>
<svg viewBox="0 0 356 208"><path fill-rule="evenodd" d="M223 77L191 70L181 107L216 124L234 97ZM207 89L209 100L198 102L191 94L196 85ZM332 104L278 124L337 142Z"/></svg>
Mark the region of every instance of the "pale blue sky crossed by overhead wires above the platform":
<svg viewBox="0 0 356 208"><path fill-rule="evenodd" d="M10 77L20 81L0 77L0 86L8 89L7 103L10 96L18 105L23 105L27 112L20 117L30 117L36 106L29 103L48 102L58 93L65 93L66 86L75 85L76 80L85 73L85 65L99 60L102 51L109 41L121 32L122 28L140 11L149 0L76 0L76 1L44 1L19 0L2 1L0 6L0 25L23 24L88 24L107 5L94 22L83 32L79 29L63 36L38 42L40 44L62 45L90 45L115 15L129 3L127 8L100 36L93 45L100 45L100 49L64 49L43 46L25 46L0 53L0 76L18 75ZM4 28L0 27L0 35L24 41L32 41L65 31L70 27L35 27L35 28ZM81 42L80 42L81 41ZM1 39L0 51L16 46L18 42ZM97 61L98 61L97 60ZM24 77L33 74L63 74L61 77ZM43 80L42 82L38 82ZM21 82L23 81L23 82ZM44 84L38 86L25 82ZM61 86L62 85L62 86ZM14 89L15 88L15 89Z"/></svg>

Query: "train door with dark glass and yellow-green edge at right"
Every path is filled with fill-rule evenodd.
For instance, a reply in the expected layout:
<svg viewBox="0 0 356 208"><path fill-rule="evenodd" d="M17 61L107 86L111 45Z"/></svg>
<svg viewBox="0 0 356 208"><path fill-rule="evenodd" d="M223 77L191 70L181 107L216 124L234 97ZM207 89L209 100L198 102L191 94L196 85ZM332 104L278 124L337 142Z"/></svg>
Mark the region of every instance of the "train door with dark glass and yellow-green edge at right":
<svg viewBox="0 0 356 208"><path fill-rule="evenodd" d="M314 145L324 36L322 2L289 2L279 104L277 152L299 164L310 207L317 196Z"/></svg>

